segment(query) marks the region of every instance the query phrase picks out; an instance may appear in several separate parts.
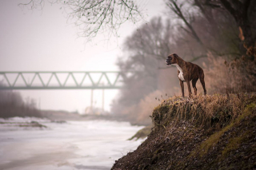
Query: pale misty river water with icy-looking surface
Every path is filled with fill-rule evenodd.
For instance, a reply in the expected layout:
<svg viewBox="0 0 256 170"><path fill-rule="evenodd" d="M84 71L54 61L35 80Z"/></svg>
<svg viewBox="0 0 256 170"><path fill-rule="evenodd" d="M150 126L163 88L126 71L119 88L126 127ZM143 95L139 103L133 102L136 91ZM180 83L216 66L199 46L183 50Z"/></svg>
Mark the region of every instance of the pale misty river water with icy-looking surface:
<svg viewBox="0 0 256 170"><path fill-rule="evenodd" d="M21 124L31 121L47 128ZM142 143L142 140L127 140L143 128L128 122L57 123L20 117L0 119L0 122L1 170L110 169L114 160Z"/></svg>

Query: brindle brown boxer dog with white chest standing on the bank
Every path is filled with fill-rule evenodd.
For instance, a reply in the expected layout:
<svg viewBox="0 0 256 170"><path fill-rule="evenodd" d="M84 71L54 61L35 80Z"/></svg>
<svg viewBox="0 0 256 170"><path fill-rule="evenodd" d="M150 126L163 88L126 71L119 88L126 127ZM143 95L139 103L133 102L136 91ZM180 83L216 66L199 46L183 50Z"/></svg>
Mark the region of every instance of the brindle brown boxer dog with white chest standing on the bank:
<svg viewBox="0 0 256 170"><path fill-rule="evenodd" d="M176 53L173 53L167 57L166 65L175 65L177 67L179 84L181 85L182 88L182 97L184 97L184 81L186 81L187 87L189 89L189 96L191 97L192 95L190 81L192 81L194 95L197 95L196 83L198 81L198 78L202 84L204 94L206 95L206 87L204 81L205 76L201 67L191 62L186 62L182 60L182 58L178 57Z"/></svg>

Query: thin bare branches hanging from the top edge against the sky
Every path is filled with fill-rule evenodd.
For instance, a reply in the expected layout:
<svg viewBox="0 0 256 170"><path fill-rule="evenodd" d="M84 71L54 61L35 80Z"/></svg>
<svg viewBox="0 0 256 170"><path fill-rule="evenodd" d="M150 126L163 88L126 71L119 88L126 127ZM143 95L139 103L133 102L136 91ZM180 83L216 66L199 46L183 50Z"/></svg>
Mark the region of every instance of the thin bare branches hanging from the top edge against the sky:
<svg viewBox="0 0 256 170"><path fill-rule="evenodd" d="M61 4L67 18L78 26L78 36L91 41L98 33L118 37L119 27L126 21L138 22L142 12L133 0L30 0L19 6L42 10L46 2Z"/></svg>

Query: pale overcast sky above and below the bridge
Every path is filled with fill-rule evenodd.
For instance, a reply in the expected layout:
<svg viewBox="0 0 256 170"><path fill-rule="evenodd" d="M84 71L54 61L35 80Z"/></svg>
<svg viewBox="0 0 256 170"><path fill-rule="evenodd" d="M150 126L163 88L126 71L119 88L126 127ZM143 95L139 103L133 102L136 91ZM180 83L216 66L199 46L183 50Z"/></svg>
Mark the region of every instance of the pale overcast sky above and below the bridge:
<svg viewBox="0 0 256 170"><path fill-rule="evenodd" d="M120 29L121 38L102 42L98 35L91 44L78 38L77 28L67 23L59 5L46 3L43 10L18 6L30 0L0 1L0 71L118 71L117 57L122 43L142 23L127 22ZM165 11L163 1L138 1L144 6L146 22ZM96 45L97 44L97 45ZM0 77L2 79L2 77ZM26 77L32 79L32 77ZM78 111L90 106L88 90L19 90L22 97L40 101L41 109ZM105 90L105 109L117 97L118 90ZM94 105L102 107L102 90L94 90Z"/></svg>

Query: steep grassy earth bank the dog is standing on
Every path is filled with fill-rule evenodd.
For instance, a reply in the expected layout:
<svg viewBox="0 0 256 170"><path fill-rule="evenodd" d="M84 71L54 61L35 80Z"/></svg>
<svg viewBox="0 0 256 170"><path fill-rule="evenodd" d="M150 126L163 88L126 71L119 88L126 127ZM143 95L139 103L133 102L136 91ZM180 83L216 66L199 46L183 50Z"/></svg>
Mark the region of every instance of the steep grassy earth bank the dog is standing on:
<svg viewBox="0 0 256 170"><path fill-rule="evenodd" d="M256 168L256 94L172 97L152 113L154 128L112 169Z"/></svg>

